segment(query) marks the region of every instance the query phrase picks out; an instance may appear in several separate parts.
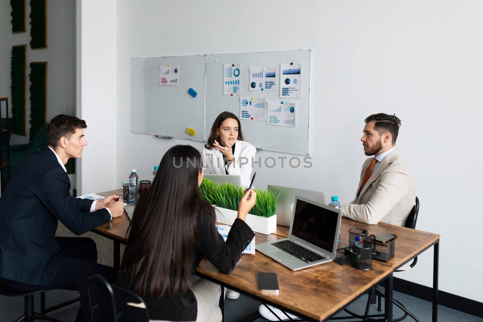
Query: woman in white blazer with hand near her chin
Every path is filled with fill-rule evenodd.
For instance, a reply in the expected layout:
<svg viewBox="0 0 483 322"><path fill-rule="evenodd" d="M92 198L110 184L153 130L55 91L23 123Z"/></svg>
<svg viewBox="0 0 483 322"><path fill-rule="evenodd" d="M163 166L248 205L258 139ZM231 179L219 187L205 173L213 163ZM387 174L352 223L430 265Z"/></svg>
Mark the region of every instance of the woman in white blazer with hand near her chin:
<svg viewBox="0 0 483 322"><path fill-rule="evenodd" d="M203 146L204 164L207 173L238 174L241 185L250 185L256 148L243 140L238 117L222 112L213 122L207 144Z"/></svg>

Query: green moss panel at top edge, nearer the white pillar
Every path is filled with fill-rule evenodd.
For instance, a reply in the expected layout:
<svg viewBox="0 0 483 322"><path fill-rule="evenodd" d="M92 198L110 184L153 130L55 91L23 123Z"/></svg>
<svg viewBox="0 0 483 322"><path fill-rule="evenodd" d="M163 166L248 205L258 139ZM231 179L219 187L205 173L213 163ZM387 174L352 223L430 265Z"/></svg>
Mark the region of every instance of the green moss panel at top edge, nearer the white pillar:
<svg viewBox="0 0 483 322"><path fill-rule="evenodd" d="M30 0L30 48L47 48L47 2Z"/></svg>

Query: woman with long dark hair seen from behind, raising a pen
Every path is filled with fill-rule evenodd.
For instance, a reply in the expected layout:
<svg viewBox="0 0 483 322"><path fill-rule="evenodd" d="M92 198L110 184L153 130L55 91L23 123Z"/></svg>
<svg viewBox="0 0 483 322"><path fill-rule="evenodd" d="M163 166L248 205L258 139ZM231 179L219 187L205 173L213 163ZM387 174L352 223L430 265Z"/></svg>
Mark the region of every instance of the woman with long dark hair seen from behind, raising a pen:
<svg viewBox="0 0 483 322"><path fill-rule="evenodd" d="M201 199L203 165L198 150L173 146L152 186L139 199L116 284L139 294L151 320L221 321L220 286L190 279L206 257L229 273L255 236L245 217L256 193L241 198L227 241L218 234L213 207Z"/></svg>

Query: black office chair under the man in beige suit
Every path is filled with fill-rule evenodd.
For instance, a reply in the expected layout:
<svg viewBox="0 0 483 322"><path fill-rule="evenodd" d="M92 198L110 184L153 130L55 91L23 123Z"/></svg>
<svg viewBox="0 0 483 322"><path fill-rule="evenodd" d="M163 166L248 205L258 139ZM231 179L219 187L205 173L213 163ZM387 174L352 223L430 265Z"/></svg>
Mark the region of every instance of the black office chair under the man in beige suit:
<svg viewBox="0 0 483 322"><path fill-rule="evenodd" d="M406 223L404 224L404 227L416 229L416 221L418 220L418 213L419 213L419 199L418 199L418 197L416 197L416 204L412 207L412 210L409 213L408 218L406 219ZM416 257L414 257L414 259L412 260L412 263L410 264L411 268L414 267L417 262L418 262L418 257L416 256ZM403 271L404 270L395 270L395 272L403 272ZM385 297L385 295L386 294L384 293L384 291L382 291L376 285L374 288L369 290L369 298L367 299L366 310L364 311L363 316L359 316L359 315L355 314L354 312L351 312L350 310L348 310L346 308L344 308L344 311L349 313L350 315L352 315L354 317L358 317L358 318L363 319L363 321L371 321L371 319L368 317L370 305L376 304L376 297L377 297L377 299L378 299L377 310L382 311L381 298ZM416 318L414 316L414 314L412 314L401 302L399 302L398 300L395 300L393 298L393 303L394 303L394 305L396 305L398 308L400 308L404 312L403 316L401 316L400 318L397 318L397 319L393 319L393 322L402 321L402 320L406 319L406 317L408 315L414 321L419 322L418 318Z"/></svg>

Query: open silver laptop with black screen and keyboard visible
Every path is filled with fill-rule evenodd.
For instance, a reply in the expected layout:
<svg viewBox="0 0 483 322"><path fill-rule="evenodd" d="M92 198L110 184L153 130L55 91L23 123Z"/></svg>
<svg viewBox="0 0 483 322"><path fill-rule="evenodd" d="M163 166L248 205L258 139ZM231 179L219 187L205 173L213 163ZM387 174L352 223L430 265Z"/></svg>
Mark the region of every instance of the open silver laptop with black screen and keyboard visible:
<svg viewBox="0 0 483 322"><path fill-rule="evenodd" d="M256 245L256 250L292 270L335 258L341 210L295 196L288 238Z"/></svg>

